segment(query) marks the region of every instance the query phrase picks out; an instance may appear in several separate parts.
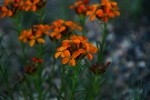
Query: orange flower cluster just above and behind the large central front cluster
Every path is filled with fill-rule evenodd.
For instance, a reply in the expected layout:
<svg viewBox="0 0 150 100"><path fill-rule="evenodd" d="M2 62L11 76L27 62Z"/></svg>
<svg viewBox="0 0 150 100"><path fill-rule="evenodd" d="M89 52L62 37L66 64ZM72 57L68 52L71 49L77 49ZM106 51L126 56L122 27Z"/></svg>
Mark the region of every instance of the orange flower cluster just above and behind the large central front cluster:
<svg viewBox="0 0 150 100"><path fill-rule="evenodd" d="M62 19L52 22L50 25L50 38L60 39L62 36L70 35L74 30L81 31L82 27L72 21L64 21Z"/></svg>

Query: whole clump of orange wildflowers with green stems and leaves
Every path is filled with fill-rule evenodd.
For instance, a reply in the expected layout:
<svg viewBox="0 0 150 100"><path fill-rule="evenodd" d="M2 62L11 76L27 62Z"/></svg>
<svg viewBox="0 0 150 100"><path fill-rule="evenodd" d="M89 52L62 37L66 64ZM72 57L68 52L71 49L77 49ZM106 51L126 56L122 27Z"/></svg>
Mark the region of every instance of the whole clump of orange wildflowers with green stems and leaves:
<svg viewBox="0 0 150 100"><path fill-rule="evenodd" d="M89 0L76 0L70 10L75 11L80 22L60 18L50 24L44 22L46 4L47 0L4 0L0 5L0 18L9 17L17 26L12 29L21 44L22 55L17 57L21 59L19 64L24 69L16 74L19 80L10 87L7 78L9 69L0 65L0 76L9 91L1 96L12 100L51 100L53 97L58 100L96 99L100 93L102 74L110 64L110 61L105 62L104 51L109 34L107 25L110 19L120 15L117 2L101 0L91 4ZM36 15L38 21L24 27L23 16L28 12ZM97 45L87 38L86 20L97 21L103 29L101 40L95 41ZM47 41L54 45L51 48L54 52L46 51ZM29 49L35 53L30 55ZM45 58L47 55L52 55L49 60ZM3 56L0 55L0 59ZM46 69L49 72L44 76ZM55 75L60 84L55 83Z"/></svg>

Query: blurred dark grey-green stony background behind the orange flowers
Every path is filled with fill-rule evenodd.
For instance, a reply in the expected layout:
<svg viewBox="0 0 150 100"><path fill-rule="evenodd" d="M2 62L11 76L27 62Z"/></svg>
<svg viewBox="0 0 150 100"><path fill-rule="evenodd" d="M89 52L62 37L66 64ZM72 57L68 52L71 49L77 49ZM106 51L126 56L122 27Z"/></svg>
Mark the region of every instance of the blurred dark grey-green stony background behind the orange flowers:
<svg viewBox="0 0 150 100"><path fill-rule="evenodd" d="M101 100L150 100L150 1L116 1L121 15L113 19L108 27L110 34L107 37L106 60L111 61L111 65L106 72ZM44 23L61 18L78 22L78 16L69 9L74 2L75 0L48 0ZM92 0L91 3L95 2L100 1ZM30 28L36 23L35 16L25 14L24 23L24 27ZM10 18L0 19L0 37L3 37L0 52L7 51L7 55L11 56L9 72L12 81L22 68L15 55L20 54L20 42L11 26L15 24ZM91 42L101 38L102 33L96 22L90 22L87 18L86 27ZM34 54L29 56L32 55ZM0 62L5 63L2 60ZM0 83L0 92L2 90Z"/></svg>

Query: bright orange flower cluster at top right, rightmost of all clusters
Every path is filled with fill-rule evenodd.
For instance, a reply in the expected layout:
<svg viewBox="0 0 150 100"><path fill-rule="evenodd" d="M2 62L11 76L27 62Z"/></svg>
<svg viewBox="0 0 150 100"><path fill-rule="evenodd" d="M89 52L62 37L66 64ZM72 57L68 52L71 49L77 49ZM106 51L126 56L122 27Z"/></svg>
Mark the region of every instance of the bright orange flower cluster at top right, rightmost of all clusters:
<svg viewBox="0 0 150 100"><path fill-rule="evenodd" d="M102 0L100 4L91 5L86 15L90 17L91 21L98 18L104 22L107 22L109 18L120 15L118 10L117 2Z"/></svg>

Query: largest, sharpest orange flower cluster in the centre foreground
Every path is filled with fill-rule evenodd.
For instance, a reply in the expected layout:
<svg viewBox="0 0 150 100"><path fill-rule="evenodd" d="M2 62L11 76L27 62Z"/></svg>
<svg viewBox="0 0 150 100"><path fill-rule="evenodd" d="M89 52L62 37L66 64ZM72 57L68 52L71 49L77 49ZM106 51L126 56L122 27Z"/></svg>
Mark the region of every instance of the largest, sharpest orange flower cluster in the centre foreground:
<svg viewBox="0 0 150 100"><path fill-rule="evenodd" d="M57 48L55 58L62 57L62 63L76 65L76 59L85 56L89 60L93 59L92 54L97 52L97 48L87 41L86 37L73 35L70 39L63 40L62 46Z"/></svg>

